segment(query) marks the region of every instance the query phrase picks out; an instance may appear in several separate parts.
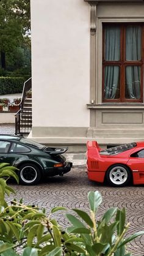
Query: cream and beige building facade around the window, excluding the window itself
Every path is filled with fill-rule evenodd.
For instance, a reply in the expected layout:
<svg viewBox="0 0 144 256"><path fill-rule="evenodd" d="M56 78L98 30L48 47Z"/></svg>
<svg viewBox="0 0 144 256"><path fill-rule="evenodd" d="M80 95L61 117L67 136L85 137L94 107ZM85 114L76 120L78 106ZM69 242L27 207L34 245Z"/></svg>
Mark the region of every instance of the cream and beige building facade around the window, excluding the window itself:
<svg viewBox="0 0 144 256"><path fill-rule="evenodd" d="M30 136L49 145L143 140L143 103L102 101L102 45L103 23L144 22L144 4L85 1L31 0Z"/></svg>

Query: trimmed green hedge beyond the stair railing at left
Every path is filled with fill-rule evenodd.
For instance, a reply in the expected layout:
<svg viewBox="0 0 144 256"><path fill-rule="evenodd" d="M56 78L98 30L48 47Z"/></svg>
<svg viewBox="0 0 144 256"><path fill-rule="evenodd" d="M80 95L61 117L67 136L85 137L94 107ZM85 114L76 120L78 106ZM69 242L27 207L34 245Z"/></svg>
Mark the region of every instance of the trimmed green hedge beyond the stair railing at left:
<svg viewBox="0 0 144 256"><path fill-rule="evenodd" d="M21 93L24 81L24 77L0 77L0 95Z"/></svg>

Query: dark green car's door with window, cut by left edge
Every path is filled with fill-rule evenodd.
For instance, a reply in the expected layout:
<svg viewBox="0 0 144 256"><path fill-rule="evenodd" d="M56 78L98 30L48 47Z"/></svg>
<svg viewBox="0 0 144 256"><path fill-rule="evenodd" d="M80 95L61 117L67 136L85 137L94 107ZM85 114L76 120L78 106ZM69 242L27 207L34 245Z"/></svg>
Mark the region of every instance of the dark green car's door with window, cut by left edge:
<svg viewBox="0 0 144 256"><path fill-rule="evenodd" d="M9 151L10 145L10 141L0 140L0 164L9 163L7 152Z"/></svg>

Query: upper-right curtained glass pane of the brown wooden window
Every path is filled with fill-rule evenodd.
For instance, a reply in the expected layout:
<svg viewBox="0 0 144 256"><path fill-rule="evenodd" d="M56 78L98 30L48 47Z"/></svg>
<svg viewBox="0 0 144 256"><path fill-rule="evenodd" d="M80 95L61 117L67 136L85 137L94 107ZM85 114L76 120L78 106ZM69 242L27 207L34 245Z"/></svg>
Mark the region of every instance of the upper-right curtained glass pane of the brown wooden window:
<svg viewBox="0 0 144 256"><path fill-rule="evenodd" d="M126 28L126 60L139 61L142 59L142 29L141 26L128 26Z"/></svg>

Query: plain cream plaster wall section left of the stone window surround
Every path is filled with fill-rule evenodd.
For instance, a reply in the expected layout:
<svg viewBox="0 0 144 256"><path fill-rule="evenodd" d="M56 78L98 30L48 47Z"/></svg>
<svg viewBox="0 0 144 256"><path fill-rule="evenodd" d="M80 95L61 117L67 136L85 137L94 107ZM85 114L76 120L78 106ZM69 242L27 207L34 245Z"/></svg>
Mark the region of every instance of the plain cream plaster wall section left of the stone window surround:
<svg viewBox="0 0 144 256"><path fill-rule="evenodd" d="M87 135L89 15L81 0L31 1L32 137Z"/></svg>

